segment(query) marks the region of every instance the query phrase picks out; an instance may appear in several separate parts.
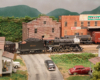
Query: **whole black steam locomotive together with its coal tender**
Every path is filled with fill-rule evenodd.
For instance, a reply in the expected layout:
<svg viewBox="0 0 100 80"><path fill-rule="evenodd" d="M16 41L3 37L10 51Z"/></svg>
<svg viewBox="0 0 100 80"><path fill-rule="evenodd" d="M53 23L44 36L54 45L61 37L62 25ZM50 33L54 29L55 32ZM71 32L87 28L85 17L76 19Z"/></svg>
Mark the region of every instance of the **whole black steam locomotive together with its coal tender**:
<svg viewBox="0 0 100 80"><path fill-rule="evenodd" d="M74 39L59 39L40 40L36 38L29 38L18 43L18 51L20 53L39 53L39 52L68 52L68 51L82 51L79 46L80 40Z"/></svg>

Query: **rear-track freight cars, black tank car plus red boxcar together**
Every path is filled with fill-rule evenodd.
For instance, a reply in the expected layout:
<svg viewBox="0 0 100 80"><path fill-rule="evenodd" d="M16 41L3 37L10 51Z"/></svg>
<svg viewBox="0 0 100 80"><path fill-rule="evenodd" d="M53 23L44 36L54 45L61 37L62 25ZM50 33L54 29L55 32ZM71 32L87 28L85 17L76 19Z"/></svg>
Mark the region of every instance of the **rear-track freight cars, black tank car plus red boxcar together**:
<svg viewBox="0 0 100 80"><path fill-rule="evenodd" d="M100 31L93 31L91 35L67 35L63 38L73 39L75 36L80 39L82 44L100 43Z"/></svg>

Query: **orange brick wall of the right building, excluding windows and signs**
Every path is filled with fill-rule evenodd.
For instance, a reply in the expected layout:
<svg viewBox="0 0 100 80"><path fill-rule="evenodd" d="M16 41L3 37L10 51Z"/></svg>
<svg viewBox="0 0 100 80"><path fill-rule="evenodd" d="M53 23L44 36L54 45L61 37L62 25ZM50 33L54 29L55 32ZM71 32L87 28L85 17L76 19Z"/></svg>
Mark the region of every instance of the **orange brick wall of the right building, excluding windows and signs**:
<svg viewBox="0 0 100 80"><path fill-rule="evenodd" d="M59 21L61 22L61 36L65 35L74 35L75 33L79 33L79 35L87 35L89 32L87 29L82 29L81 27L88 27L88 21L80 21L79 15L75 16L60 16ZM67 26L65 26L65 22L67 22ZM77 22L77 26L75 26L75 22ZM83 26L81 26L81 22L83 22ZM89 21L90 26L95 26L95 21ZM97 26L100 26L100 21L97 21ZM80 29L72 29L72 27L78 27Z"/></svg>

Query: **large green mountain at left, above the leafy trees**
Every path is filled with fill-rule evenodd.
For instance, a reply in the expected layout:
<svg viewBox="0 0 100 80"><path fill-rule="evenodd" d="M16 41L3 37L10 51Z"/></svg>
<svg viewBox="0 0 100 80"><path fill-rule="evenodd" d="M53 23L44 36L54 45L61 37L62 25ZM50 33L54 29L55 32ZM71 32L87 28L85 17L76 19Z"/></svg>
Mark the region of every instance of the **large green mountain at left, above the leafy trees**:
<svg viewBox="0 0 100 80"><path fill-rule="evenodd" d="M37 9L31 8L26 5L17 5L17 6L10 6L5 8L0 8L0 16L4 17L37 17L41 14Z"/></svg>

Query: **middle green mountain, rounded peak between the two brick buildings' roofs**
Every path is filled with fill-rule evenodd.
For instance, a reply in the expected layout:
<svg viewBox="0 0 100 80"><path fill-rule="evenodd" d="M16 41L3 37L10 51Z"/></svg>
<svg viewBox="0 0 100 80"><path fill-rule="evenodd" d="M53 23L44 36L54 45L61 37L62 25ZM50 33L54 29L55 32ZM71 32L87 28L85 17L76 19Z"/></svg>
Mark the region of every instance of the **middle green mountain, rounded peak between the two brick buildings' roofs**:
<svg viewBox="0 0 100 80"><path fill-rule="evenodd" d="M55 9L55 10L49 12L47 15L58 18L61 15L79 15L79 14L77 12L70 12L68 10L59 8L59 9Z"/></svg>

